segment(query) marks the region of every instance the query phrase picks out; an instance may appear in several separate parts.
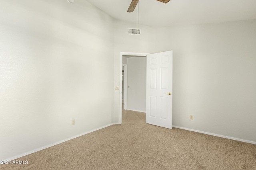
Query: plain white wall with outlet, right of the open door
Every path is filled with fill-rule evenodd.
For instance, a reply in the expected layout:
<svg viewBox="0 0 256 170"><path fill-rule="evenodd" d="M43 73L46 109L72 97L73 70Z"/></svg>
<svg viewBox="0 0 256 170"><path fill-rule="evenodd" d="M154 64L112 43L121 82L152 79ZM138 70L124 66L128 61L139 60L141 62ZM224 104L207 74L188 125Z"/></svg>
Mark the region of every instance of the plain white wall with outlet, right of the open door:
<svg viewBox="0 0 256 170"><path fill-rule="evenodd" d="M157 52L174 56L173 125L256 142L255 30L256 20L157 28Z"/></svg>

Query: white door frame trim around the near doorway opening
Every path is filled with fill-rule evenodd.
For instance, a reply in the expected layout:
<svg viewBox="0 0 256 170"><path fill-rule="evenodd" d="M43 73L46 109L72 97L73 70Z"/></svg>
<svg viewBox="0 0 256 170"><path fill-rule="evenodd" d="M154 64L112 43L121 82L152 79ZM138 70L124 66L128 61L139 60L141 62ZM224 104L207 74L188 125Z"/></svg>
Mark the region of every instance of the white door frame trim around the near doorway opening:
<svg viewBox="0 0 256 170"><path fill-rule="evenodd" d="M119 87L122 87L122 66L123 66L123 55L146 57L149 53L127 53L120 52L120 77L119 77ZM121 89L121 88L119 88ZM127 89L127 88L126 88ZM127 91L127 90L126 90ZM122 90L119 90L119 123L122 123Z"/></svg>

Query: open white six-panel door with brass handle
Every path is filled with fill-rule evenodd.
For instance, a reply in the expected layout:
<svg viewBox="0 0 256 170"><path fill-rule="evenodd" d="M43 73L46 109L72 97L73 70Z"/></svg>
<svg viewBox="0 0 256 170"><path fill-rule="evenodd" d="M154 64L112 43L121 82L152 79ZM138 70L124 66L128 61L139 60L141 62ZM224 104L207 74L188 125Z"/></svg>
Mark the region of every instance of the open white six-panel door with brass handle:
<svg viewBox="0 0 256 170"><path fill-rule="evenodd" d="M172 129L172 51L147 55L146 123Z"/></svg>

